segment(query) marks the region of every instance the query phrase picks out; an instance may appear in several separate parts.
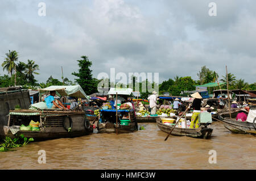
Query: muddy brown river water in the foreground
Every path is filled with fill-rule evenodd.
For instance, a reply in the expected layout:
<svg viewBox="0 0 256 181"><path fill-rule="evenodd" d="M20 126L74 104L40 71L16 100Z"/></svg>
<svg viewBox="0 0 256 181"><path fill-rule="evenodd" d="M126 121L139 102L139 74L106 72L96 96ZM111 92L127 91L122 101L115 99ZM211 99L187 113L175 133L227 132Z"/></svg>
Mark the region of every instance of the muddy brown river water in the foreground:
<svg viewBox="0 0 256 181"><path fill-rule="evenodd" d="M141 123L142 131L97 134L34 142L0 153L0 169L255 169L256 137L232 134L213 123L209 140L170 136L156 123ZM38 163L46 151L46 164ZM217 151L210 164L209 150Z"/></svg>

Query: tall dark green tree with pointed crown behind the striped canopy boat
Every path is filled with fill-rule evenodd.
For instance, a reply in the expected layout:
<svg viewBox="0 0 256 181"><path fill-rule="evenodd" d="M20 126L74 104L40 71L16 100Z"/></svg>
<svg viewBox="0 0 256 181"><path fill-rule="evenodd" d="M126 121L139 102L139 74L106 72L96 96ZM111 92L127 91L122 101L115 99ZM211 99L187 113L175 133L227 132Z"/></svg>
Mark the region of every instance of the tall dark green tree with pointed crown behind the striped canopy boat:
<svg viewBox="0 0 256 181"><path fill-rule="evenodd" d="M97 79L93 78L92 70L90 70L90 66L92 66L92 62L89 61L88 57L81 56L82 60L77 60L79 62L79 73L73 72L72 75L78 77L75 79L77 83L82 87L85 91L85 94L90 95L94 92L97 92Z"/></svg>

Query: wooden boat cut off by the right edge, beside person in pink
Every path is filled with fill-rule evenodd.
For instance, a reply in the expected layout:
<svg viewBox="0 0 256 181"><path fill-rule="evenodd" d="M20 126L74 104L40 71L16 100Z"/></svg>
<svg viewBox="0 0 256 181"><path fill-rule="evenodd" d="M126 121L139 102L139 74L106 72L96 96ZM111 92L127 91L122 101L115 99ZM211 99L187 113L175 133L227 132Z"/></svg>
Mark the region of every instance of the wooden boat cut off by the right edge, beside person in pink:
<svg viewBox="0 0 256 181"><path fill-rule="evenodd" d="M237 114L238 112L236 112ZM251 108L249 114L247 116L246 121L238 121L236 120L236 116L234 113L232 114L232 118L226 114L220 114L218 119L224 123L224 127L231 131L232 133L239 134L256 134L256 109Z"/></svg>

